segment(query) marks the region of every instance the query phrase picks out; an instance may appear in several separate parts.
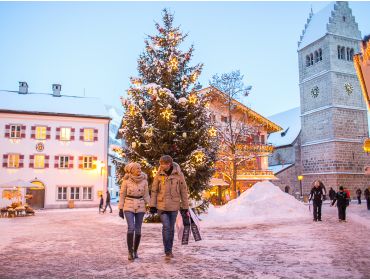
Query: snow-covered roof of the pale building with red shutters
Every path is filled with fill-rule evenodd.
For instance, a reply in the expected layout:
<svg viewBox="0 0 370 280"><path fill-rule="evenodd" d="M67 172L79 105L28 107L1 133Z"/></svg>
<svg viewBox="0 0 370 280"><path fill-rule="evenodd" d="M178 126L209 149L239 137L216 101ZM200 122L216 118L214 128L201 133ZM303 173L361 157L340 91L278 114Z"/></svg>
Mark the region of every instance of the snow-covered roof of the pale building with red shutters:
<svg viewBox="0 0 370 280"><path fill-rule="evenodd" d="M104 104L98 98L45 93L19 94L17 91L0 91L0 111L18 113L55 114L109 118Z"/></svg>

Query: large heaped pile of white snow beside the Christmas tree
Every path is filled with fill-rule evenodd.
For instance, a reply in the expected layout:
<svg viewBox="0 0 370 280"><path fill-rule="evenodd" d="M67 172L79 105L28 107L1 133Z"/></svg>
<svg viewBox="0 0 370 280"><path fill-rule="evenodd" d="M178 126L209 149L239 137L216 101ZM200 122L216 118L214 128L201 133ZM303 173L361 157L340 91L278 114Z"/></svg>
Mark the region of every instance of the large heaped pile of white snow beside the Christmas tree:
<svg viewBox="0 0 370 280"><path fill-rule="evenodd" d="M263 181L219 208L210 205L204 225L245 225L308 217L307 207L274 184Z"/></svg>

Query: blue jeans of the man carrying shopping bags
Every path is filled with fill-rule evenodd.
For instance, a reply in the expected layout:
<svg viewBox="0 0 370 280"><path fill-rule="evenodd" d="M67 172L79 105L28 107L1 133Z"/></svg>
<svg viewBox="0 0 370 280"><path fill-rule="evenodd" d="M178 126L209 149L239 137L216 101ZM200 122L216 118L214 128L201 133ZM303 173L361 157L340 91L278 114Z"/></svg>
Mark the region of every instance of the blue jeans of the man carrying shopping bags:
<svg viewBox="0 0 370 280"><path fill-rule="evenodd" d="M162 222L162 238L165 253L172 252L175 223L178 211L158 211Z"/></svg>

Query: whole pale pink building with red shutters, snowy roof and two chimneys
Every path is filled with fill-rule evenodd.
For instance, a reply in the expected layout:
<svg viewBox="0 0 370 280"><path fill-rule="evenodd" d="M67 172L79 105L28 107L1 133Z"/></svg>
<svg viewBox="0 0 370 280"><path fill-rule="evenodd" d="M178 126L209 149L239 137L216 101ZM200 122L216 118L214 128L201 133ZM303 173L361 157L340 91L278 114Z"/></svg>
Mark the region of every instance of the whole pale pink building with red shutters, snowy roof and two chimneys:
<svg viewBox="0 0 370 280"><path fill-rule="evenodd" d="M107 189L109 115L96 98L0 91L0 184L24 180L34 208L92 207ZM10 201L2 198L0 206ZM6 191L6 190L5 190Z"/></svg>

